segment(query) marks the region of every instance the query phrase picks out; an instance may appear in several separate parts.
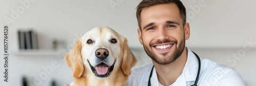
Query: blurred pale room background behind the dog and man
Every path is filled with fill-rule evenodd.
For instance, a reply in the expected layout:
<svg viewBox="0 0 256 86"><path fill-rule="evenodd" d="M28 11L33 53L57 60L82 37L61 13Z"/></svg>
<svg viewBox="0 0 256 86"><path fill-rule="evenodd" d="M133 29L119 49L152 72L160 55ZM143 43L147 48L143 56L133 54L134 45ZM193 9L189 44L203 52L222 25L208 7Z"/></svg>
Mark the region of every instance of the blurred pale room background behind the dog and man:
<svg viewBox="0 0 256 86"><path fill-rule="evenodd" d="M256 84L256 1L181 1L186 7L191 31L186 46L201 58L236 70L246 85ZM8 82L3 77L5 53L2 52L1 85L19 86L24 80L30 86L70 83L74 80L72 71L63 57L77 38L94 27L108 26L126 37L138 59L135 68L151 63L137 35L136 6L139 2L0 0L1 40L4 40L4 26L9 26ZM26 40L26 37L36 38ZM31 41L31 47L20 47L20 39ZM4 50L4 41L0 45Z"/></svg>

